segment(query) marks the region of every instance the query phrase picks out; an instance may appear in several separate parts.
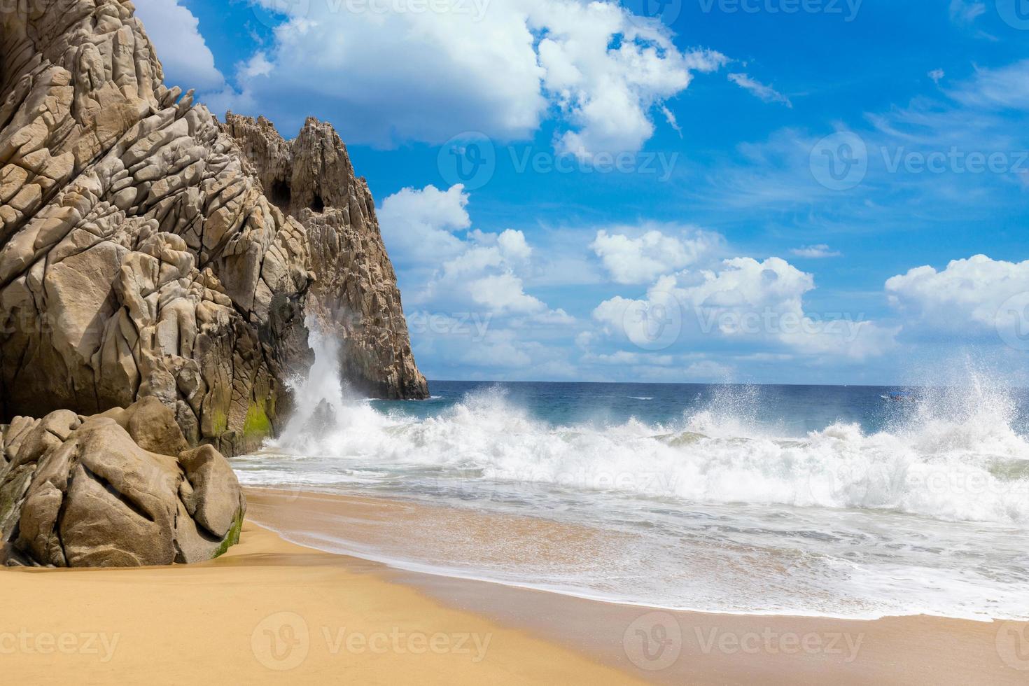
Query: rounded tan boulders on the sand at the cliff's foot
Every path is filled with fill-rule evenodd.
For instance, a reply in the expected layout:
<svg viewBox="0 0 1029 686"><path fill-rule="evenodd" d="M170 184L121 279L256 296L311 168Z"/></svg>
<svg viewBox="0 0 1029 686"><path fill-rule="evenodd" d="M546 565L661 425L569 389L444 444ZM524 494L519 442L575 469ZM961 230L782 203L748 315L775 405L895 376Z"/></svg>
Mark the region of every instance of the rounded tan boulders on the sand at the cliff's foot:
<svg viewBox="0 0 1029 686"><path fill-rule="evenodd" d="M91 418L61 409L0 432L0 559L137 567L215 557L246 501L228 462L189 449L155 397Z"/></svg>

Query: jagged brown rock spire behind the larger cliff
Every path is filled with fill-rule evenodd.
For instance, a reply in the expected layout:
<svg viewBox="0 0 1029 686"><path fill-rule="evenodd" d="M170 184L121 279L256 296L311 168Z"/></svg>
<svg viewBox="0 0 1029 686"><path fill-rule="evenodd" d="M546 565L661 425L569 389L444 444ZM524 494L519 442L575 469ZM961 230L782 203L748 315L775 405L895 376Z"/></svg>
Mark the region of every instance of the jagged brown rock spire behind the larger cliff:
<svg viewBox="0 0 1029 686"><path fill-rule="evenodd" d="M308 312L340 339L346 381L377 398L427 398L375 201L340 136L309 118L295 139L285 141L264 117L233 113L223 130L239 143L265 195L307 229L318 275Z"/></svg>

